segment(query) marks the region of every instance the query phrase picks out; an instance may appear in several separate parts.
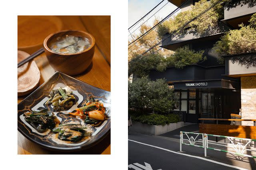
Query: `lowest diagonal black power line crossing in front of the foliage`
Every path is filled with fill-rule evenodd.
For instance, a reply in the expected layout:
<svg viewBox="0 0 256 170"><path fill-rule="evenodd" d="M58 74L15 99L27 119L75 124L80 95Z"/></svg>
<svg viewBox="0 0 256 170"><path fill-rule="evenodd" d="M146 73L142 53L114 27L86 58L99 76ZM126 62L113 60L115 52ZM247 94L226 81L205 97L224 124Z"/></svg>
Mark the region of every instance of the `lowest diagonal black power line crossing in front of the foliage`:
<svg viewBox="0 0 256 170"><path fill-rule="evenodd" d="M206 13L208 10L210 10L211 8L213 8L216 4L218 4L219 2L220 2L221 0L219 0L218 2L216 2L215 4L213 4L212 6L210 6L210 7L208 7L206 10L204 10L202 13L200 13L198 16L196 16L196 17L194 17L192 20L190 20L190 21L188 21L188 22L186 22L180 29L178 29L177 31L178 32L176 32L176 34L174 35L174 36L176 36L176 35L178 35L178 33L180 32L180 31L182 31L182 29L184 29L184 27L186 27L186 25L188 25L190 22L192 22L192 21L194 21L194 20L196 20L198 17L200 17L200 16L202 16L204 13ZM231 1L231 0L230 0ZM229 2L230 2L229 1ZM228 2L228 3L229 3ZM208 17L209 18L209 17ZM207 18L207 19L208 19ZM206 19L206 20L207 20ZM205 21L205 20L204 20ZM202 23L202 22L201 22ZM171 34L170 34L171 35ZM165 39L163 39L163 40L166 40L170 35L168 35ZM160 42L161 43L161 42ZM148 51L150 51L151 49L153 49L154 47L156 47L157 45L159 45L160 43L157 43L156 45L154 45L153 47L150 47L148 50L146 50L144 53L142 53L140 56L138 56L138 57L135 57L134 59L132 59L131 61L129 61L128 63L131 63L132 61L135 61L135 60L137 60L137 59L139 59L140 57L142 57L144 54L146 54Z"/></svg>

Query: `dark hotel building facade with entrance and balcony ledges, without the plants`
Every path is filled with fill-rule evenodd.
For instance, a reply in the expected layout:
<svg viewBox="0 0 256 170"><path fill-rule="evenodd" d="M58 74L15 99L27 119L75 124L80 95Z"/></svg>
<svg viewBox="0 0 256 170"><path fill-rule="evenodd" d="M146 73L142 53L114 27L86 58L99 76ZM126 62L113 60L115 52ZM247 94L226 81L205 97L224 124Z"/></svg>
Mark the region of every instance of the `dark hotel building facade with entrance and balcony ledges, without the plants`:
<svg viewBox="0 0 256 170"><path fill-rule="evenodd" d="M169 0L180 6L185 0ZM188 1L182 11L188 10L195 0ZM193 31L175 37L164 35L162 46L175 51L188 45L195 51L204 50L207 60L186 66L183 69L167 68L164 72L150 71L150 79L165 78L174 88L177 104L174 111L186 111L186 121L198 123L198 118L230 118L231 113L238 114L241 109L241 76L253 75L256 67L246 68L225 57L225 64L218 62L218 55L212 50L213 45L225 31L236 29L238 22L246 23L256 12L256 7L246 10L248 6L224 9L224 18L217 28L212 28L205 35ZM169 38L166 38L169 37Z"/></svg>

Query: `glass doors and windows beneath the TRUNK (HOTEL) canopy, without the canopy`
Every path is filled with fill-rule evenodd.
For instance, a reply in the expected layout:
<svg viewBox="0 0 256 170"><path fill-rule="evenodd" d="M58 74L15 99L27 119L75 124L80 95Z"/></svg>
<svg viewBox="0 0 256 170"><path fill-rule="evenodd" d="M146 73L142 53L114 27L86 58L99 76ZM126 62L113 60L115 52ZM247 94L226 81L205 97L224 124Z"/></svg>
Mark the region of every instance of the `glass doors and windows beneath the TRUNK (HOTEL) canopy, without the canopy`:
<svg viewBox="0 0 256 170"><path fill-rule="evenodd" d="M186 122L198 123L198 118L230 119L238 114L240 92L229 89L174 90L177 100L174 111L186 111Z"/></svg>

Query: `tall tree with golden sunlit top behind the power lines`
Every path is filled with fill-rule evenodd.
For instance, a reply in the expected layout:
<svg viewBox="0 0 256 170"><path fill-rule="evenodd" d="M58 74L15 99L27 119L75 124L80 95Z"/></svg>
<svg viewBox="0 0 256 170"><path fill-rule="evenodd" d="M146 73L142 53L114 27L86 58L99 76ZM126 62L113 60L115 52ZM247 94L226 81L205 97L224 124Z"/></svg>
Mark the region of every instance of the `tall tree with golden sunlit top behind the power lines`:
<svg viewBox="0 0 256 170"><path fill-rule="evenodd" d="M159 20L156 19L154 24L158 23L158 21ZM140 27L140 33L135 35L134 39L143 35L150 28L150 25L142 25ZM147 76L151 69L158 71L164 71L166 69L166 56L172 54L173 51L160 49L160 47L156 46L142 57L139 57L160 41L161 39L158 39L156 30L153 29L137 43L133 43L128 47L128 61L132 61L128 65L128 76L135 74L138 78L141 78L142 76Z"/></svg>

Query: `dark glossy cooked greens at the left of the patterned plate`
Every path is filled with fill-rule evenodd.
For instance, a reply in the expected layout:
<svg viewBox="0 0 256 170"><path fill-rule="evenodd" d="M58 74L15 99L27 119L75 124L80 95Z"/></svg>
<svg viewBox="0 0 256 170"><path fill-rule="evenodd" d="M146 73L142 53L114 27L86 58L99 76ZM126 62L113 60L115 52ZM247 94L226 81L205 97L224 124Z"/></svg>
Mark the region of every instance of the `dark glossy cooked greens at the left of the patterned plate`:
<svg viewBox="0 0 256 170"><path fill-rule="evenodd" d="M25 121L30 123L36 131L43 133L47 129L53 129L55 124L58 123L56 116L48 109L34 110L32 112L26 112L23 114Z"/></svg>

